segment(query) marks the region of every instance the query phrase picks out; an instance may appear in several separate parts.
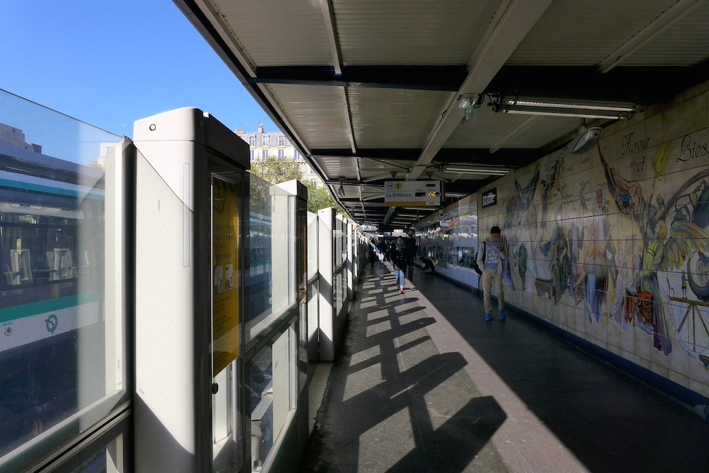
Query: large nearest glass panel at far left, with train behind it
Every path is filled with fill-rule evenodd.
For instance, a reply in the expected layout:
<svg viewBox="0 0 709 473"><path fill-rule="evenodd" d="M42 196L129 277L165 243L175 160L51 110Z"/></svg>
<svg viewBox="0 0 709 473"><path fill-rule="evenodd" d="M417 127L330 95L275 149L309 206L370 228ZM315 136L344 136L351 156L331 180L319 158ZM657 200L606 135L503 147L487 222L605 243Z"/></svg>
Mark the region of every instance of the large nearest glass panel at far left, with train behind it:
<svg viewBox="0 0 709 473"><path fill-rule="evenodd" d="M0 91L0 468L128 399L121 142Z"/></svg>

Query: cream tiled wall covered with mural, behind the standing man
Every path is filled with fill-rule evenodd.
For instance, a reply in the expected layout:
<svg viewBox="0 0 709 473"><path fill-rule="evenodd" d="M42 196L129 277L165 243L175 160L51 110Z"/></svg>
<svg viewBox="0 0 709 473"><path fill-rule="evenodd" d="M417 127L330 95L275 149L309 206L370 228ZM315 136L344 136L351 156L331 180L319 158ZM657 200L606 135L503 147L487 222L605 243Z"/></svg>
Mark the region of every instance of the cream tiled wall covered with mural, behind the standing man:
<svg viewBox="0 0 709 473"><path fill-rule="evenodd" d="M709 397L707 83L481 189L513 306ZM705 417L705 406L694 406Z"/></svg>

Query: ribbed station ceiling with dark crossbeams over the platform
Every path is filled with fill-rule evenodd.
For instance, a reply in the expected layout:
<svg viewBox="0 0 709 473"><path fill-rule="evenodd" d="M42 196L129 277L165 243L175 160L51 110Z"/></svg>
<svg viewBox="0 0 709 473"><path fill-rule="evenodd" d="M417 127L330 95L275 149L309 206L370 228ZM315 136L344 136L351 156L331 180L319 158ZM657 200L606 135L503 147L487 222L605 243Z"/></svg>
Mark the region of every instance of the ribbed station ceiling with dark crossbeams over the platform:
<svg viewBox="0 0 709 473"><path fill-rule="evenodd" d="M174 1L380 231L437 211L386 206L386 181L440 180L449 205L616 119L526 99L638 110L709 79L705 0Z"/></svg>

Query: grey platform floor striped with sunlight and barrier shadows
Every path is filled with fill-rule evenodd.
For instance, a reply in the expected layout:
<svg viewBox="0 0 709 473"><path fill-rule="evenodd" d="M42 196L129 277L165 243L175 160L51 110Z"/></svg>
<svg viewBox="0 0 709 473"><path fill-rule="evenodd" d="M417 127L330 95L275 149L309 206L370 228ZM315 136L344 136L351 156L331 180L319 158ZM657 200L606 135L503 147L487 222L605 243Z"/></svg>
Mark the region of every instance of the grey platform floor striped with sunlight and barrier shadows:
<svg viewBox="0 0 709 473"><path fill-rule="evenodd" d="M301 472L707 471L696 414L513 309L486 322L469 289L414 280L398 294L390 267L362 267Z"/></svg>

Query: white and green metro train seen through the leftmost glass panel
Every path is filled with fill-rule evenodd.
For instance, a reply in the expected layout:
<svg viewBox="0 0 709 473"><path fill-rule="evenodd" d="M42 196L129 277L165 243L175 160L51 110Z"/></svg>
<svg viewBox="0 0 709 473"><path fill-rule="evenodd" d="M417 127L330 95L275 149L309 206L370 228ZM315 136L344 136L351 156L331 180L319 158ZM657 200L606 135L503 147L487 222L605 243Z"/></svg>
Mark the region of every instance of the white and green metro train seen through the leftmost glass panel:
<svg viewBox="0 0 709 473"><path fill-rule="evenodd" d="M105 370L106 336L102 173L1 151L0 456L101 398L79 371Z"/></svg>

